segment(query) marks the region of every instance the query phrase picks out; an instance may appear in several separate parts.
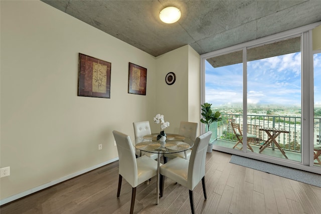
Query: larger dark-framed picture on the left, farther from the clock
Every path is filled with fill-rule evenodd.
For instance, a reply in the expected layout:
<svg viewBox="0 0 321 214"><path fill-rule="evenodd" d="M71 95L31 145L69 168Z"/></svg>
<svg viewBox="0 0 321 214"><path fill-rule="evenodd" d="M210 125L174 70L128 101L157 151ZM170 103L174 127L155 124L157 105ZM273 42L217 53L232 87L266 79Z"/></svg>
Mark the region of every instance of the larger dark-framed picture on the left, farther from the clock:
<svg viewBox="0 0 321 214"><path fill-rule="evenodd" d="M110 98L111 63L79 53L78 96Z"/></svg>

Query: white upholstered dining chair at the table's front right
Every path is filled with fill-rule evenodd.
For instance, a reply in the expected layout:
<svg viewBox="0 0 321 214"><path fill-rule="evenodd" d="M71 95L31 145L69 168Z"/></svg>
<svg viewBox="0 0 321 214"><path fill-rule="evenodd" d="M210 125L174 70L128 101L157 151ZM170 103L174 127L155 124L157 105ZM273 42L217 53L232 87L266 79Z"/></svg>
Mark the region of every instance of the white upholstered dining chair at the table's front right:
<svg viewBox="0 0 321 214"><path fill-rule="evenodd" d="M196 138L190 160L177 157L161 166L161 197L163 197L164 193L165 177L168 177L189 189L193 214L195 213L193 190L201 180L204 198L207 198L205 188L205 158L211 135L212 132L208 131Z"/></svg>

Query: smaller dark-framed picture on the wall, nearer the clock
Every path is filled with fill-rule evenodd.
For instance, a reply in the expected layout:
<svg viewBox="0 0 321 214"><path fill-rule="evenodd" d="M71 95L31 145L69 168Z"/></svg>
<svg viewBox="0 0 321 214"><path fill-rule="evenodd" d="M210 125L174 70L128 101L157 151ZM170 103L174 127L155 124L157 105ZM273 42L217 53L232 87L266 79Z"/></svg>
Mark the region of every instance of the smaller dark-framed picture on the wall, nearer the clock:
<svg viewBox="0 0 321 214"><path fill-rule="evenodd" d="M147 69L129 63L128 93L146 95Z"/></svg>

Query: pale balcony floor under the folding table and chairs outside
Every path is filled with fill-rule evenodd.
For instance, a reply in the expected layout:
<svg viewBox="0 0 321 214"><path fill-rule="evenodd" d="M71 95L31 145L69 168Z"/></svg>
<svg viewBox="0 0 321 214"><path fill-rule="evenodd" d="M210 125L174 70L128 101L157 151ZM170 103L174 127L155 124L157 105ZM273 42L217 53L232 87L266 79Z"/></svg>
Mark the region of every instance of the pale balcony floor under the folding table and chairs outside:
<svg viewBox="0 0 321 214"><path fill-rule="evenodd" d="M233 148L233 146L235 144L236 144L235 141L228 141L228 140L222 140L222 139L217 139L213 142L213 145L222 146L225 148ZM260 145L258 145L258 144L256 144L256 145L250 144L250 145L251 145L252 149L254 150L254 153L264 154L264 155L277 157L277 158L281 158L281 159L286 159L284 157L284 155L281 153L281 151L276 146L275 146L274 150L271 147L267 147L261 153L259 153ZM238 147L241 148L240 144L238 145ZM234 148L234 149L237 149L237 148ZM248 149L248 151L251 151L251 150ZM286 151L286 150L284 150L284 152L289 160L301 162L301 153L300 152L292 152L292 151ZM317 164L317 161L314 161L314 163L316 163L315 164L316 166L320 166L319 164Z"/></svg>

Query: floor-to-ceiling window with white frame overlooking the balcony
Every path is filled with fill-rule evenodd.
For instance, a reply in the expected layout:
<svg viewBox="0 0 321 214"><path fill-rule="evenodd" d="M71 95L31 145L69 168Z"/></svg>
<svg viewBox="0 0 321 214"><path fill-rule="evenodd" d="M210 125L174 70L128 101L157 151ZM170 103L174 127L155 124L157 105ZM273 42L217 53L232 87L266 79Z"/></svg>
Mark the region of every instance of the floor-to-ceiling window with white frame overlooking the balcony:
<svg viewBox="0 0 321 214"><path fill-rule="evenodd" d="M304 47L310 44L309 33L316 26L201 56L204 72L201 102L211 103L222 115L214 149L243 153L256 159L273 159L283 165L298 163L302 168L310 165L304 156L310 155L305 148L309 148L308 130L312 127L303 120L311 106L304 97L313 97L305 80L313 74L313 69L306 66L312 55L311 50ZM314 90L321 82L316 63L319 56L314 55ZM317 109L315 99L319 98L315 93L314 109ZM240 127L241 137L233 130L232 123ZM321 135L315 135L315 140L317 136ZM235 146L240 139L243 144Z"/></svg>

